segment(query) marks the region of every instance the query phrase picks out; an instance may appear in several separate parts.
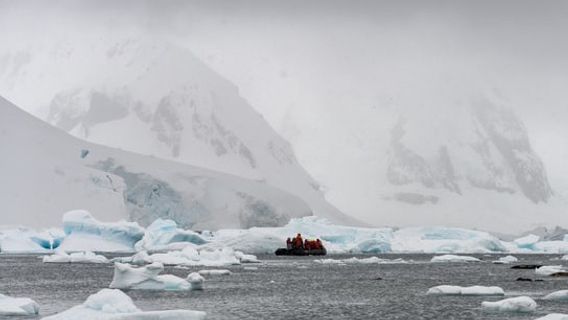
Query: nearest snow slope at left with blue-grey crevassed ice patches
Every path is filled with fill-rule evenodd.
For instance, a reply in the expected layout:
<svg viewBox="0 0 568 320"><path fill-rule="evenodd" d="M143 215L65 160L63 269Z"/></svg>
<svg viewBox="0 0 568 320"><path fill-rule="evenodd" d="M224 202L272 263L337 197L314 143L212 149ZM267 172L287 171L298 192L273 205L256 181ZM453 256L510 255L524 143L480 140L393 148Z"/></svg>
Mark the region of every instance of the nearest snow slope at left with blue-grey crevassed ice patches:
<svg viewBox="0 0 568 320"><path fill-rule="evenodd" d="M195 229L285 225L312 213L265 183L74 138L3 98L0 150L2 225L59 226L77 208L107 221L162 217Z"/></svg>

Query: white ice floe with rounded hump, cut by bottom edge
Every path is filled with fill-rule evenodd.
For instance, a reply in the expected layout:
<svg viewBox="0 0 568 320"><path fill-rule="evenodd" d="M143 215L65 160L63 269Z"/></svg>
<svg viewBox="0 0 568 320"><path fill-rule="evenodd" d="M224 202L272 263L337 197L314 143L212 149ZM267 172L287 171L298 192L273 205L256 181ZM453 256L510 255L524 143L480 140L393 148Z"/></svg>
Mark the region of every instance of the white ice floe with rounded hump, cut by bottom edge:
<svg viewBox="0 0 568 320"><path fill-rule="evenodd" d="M193 310L141 311L124 292L102 289L90 295L83 304L43 320L198 320L205 319L205 315L205 312Z"/></svg>

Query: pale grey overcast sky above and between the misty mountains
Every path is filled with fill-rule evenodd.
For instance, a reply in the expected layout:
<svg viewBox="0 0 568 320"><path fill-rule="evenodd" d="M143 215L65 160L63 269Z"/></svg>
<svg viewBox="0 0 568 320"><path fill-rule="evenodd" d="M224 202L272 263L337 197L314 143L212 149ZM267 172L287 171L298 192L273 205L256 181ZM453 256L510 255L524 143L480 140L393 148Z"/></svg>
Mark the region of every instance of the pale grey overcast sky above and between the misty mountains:
<svg viewBox="0 0 568 320"><path fill-rule="evenodd" d="M488 90L527 124L553 188L567 193L568 1L0 0L10 39L0 50L77 28L191 49L291 141L341 209L368 209L348 202L353 184L383 174L366 172L383 112L447 110Z"/></svg>

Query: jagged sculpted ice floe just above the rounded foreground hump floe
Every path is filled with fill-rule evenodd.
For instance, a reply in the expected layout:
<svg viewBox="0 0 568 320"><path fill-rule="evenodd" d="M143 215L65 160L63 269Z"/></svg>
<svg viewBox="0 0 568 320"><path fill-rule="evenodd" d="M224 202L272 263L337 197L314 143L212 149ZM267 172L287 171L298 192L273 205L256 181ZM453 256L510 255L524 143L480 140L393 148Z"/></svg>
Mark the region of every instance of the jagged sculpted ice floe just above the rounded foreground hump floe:
<svg viewBox="0 0 568 320"><path fill-rule="evenodd" d="M162 271L164 271L164 265L159 262L144 267L133 267L116 262L114 264L114 276L109 287L113 289L171 291L195 289L189 279L170 274L160 275Z"/></svg>

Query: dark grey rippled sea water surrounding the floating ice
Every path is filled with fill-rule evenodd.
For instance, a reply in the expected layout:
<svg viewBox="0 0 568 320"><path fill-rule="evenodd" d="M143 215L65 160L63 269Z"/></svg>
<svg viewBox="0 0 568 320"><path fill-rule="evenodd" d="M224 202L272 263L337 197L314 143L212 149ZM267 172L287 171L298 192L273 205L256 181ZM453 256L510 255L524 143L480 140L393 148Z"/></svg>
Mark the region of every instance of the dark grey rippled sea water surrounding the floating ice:
<svg viewBox="0 0 568 320"><path fill-rule="evenodd" d="M334 259L351 256L332 256ZM491 263L428 263L432 255L383 255L412 260L409 264L322 265L310 257L260 257L258 270L228 267L230 276L209 276L205 290L192 292L127 291L143 310L194 309L208 319L535 319L552 312L568 313L568 302L540 298L568 289L564 279L519 282L539 278L533 270L512 270ZM498 255L477 256L494 260ZM517 255L520 263L567 264L558 255ZM189 270L166 268L185 277ZM36 300L41 316L81 304L90 294L108 287L111 265L44 264L38 256L0 255L0 293ZM382 278L382 280L378 280ZM507 296L529 295L539 304L529 315L492 314L480 309L497 297L427 296L441 284L496 285ZM39 319L40 317L18 319ZM7 318L6 318L7 319Z"/></svg>

